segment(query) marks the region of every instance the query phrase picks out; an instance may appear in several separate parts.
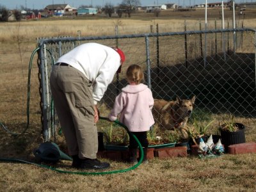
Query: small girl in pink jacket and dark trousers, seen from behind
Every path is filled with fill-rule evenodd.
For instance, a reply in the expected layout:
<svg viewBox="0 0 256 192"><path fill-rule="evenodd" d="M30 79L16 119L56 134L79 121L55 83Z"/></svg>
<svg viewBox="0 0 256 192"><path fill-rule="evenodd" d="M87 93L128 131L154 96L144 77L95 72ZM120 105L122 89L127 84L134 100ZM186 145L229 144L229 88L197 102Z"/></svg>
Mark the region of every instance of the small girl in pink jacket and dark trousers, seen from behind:
<svg viewBox="0 0 256 192"><path fill-rule="evenodd" d="M138 138L143 147L143 163L148 163L147 131L150 129L150 126L155 123L151 111L154 105L154 99L151 90L147 85L143 84L144 75L140 66L130 65L127 68L126 76L129 84L125 86L125 88L122 88L122 92L116 97L114 107L108 118L114 121L120 114L120 122ZM137 148L138 143L130 136L130 163L138 163Z"/></svg>

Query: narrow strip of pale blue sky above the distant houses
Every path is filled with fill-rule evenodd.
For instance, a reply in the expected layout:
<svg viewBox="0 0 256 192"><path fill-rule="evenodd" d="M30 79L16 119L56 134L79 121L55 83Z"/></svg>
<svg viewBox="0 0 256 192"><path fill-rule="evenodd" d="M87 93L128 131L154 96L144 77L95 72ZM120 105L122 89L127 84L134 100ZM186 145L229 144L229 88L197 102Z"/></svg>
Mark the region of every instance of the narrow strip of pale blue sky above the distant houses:
<svg viewBox="0 0 256 192"><path fill-rule="evenodd" d="M255 0L253 0L254 2ZM142 6L149 4L166 4L176 3L180 6L193 6L193 4L204 4L205 0L140 0ZM221 0L207 0L207 3L221 2ZM224 2L227 2L224 1ZM252 2L252 0L236 0L236 3ZM0 0L0 6L6 8L19 9L20 6L24 6L30 9L44 9L49 4L69 4L72 7L79 7L80 5L93 5L93 6L104 6L106 3L114 5L122 3L122 0Z"/></svg>

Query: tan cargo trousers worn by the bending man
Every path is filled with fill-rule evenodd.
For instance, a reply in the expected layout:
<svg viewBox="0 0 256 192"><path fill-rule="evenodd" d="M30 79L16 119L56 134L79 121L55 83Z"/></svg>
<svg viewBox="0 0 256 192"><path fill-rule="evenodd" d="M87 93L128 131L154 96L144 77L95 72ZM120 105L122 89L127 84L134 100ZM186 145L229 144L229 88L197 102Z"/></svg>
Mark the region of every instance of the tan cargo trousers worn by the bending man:
<svg viewBox="0 0 256 192"><path fill-rule="evenodd" d="M51 92L70 156L95 159L98 150L92 82L70 66L52 67Z"/></svg>

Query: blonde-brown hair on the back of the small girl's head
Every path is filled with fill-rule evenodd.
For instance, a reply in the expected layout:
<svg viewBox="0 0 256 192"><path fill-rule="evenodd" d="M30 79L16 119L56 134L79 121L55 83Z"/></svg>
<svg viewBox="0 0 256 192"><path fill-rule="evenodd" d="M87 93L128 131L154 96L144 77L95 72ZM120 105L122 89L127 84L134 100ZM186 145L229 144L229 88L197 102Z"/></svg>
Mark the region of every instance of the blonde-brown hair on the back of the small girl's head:
<svg viewBox="0 0 256 192"><path fill-rule="evenodd" d="M127 80L140 84L144 82L144 74L139 65L130 65L126 71Z"/></svg>

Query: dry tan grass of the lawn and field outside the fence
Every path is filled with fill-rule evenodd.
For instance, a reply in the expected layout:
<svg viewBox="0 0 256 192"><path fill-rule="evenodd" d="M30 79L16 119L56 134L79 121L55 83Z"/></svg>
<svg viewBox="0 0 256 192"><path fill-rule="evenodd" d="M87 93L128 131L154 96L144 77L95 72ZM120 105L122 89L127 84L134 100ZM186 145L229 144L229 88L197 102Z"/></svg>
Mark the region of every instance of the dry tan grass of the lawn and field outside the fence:
<svg viewBox="0 0 256 192"><path fill-rule="evenodd" d="M247 10L246 10L247 11ZM218 13L218 12L216 12ZM247 12L246 12L247 13ZM184 13L185 14L185 13ZM196 12L186 12L196 14ZM159 32L184 31L184 18L156 19L73 19L31 20L0 23L0 122L13 132L22 132L27 122L27 83L29 59L40 36L120 35L148 33L150 25L159 24ZM212 17L212 16L211 16ZM247 17L247 15L246 15ZM186 17L187 19L188 17ZM187 30L198 30L200 17L189 17ZM212 17L211 28L214 28ZM253 18L253 17L252 17ZM231 19L230 19L231 20ZM218 21L220 23L220 20ZM204 22L202 22L204 24ZM241 24L241 20L240 20ZM244 26L256 28L255 19L244 19ZM42 143L40 95L36 58L31 67L31 100L29 127L26 134L15 137L0 129L0 157L35 161L33 149ZM102 114L104 115L104 114ZM241 119L246 125L246 141L255 141L256 120ZM52 172L28 164L0 162L0 186L3 191L255 191L256 155L224 155L218 159L196 157L154 159L127 173L104 176L69 175ZM70 161L61 161L58 168L72 170ZM111 162L111 170L129 167ZM76 171L76 170L72 170Z"/></svg>

